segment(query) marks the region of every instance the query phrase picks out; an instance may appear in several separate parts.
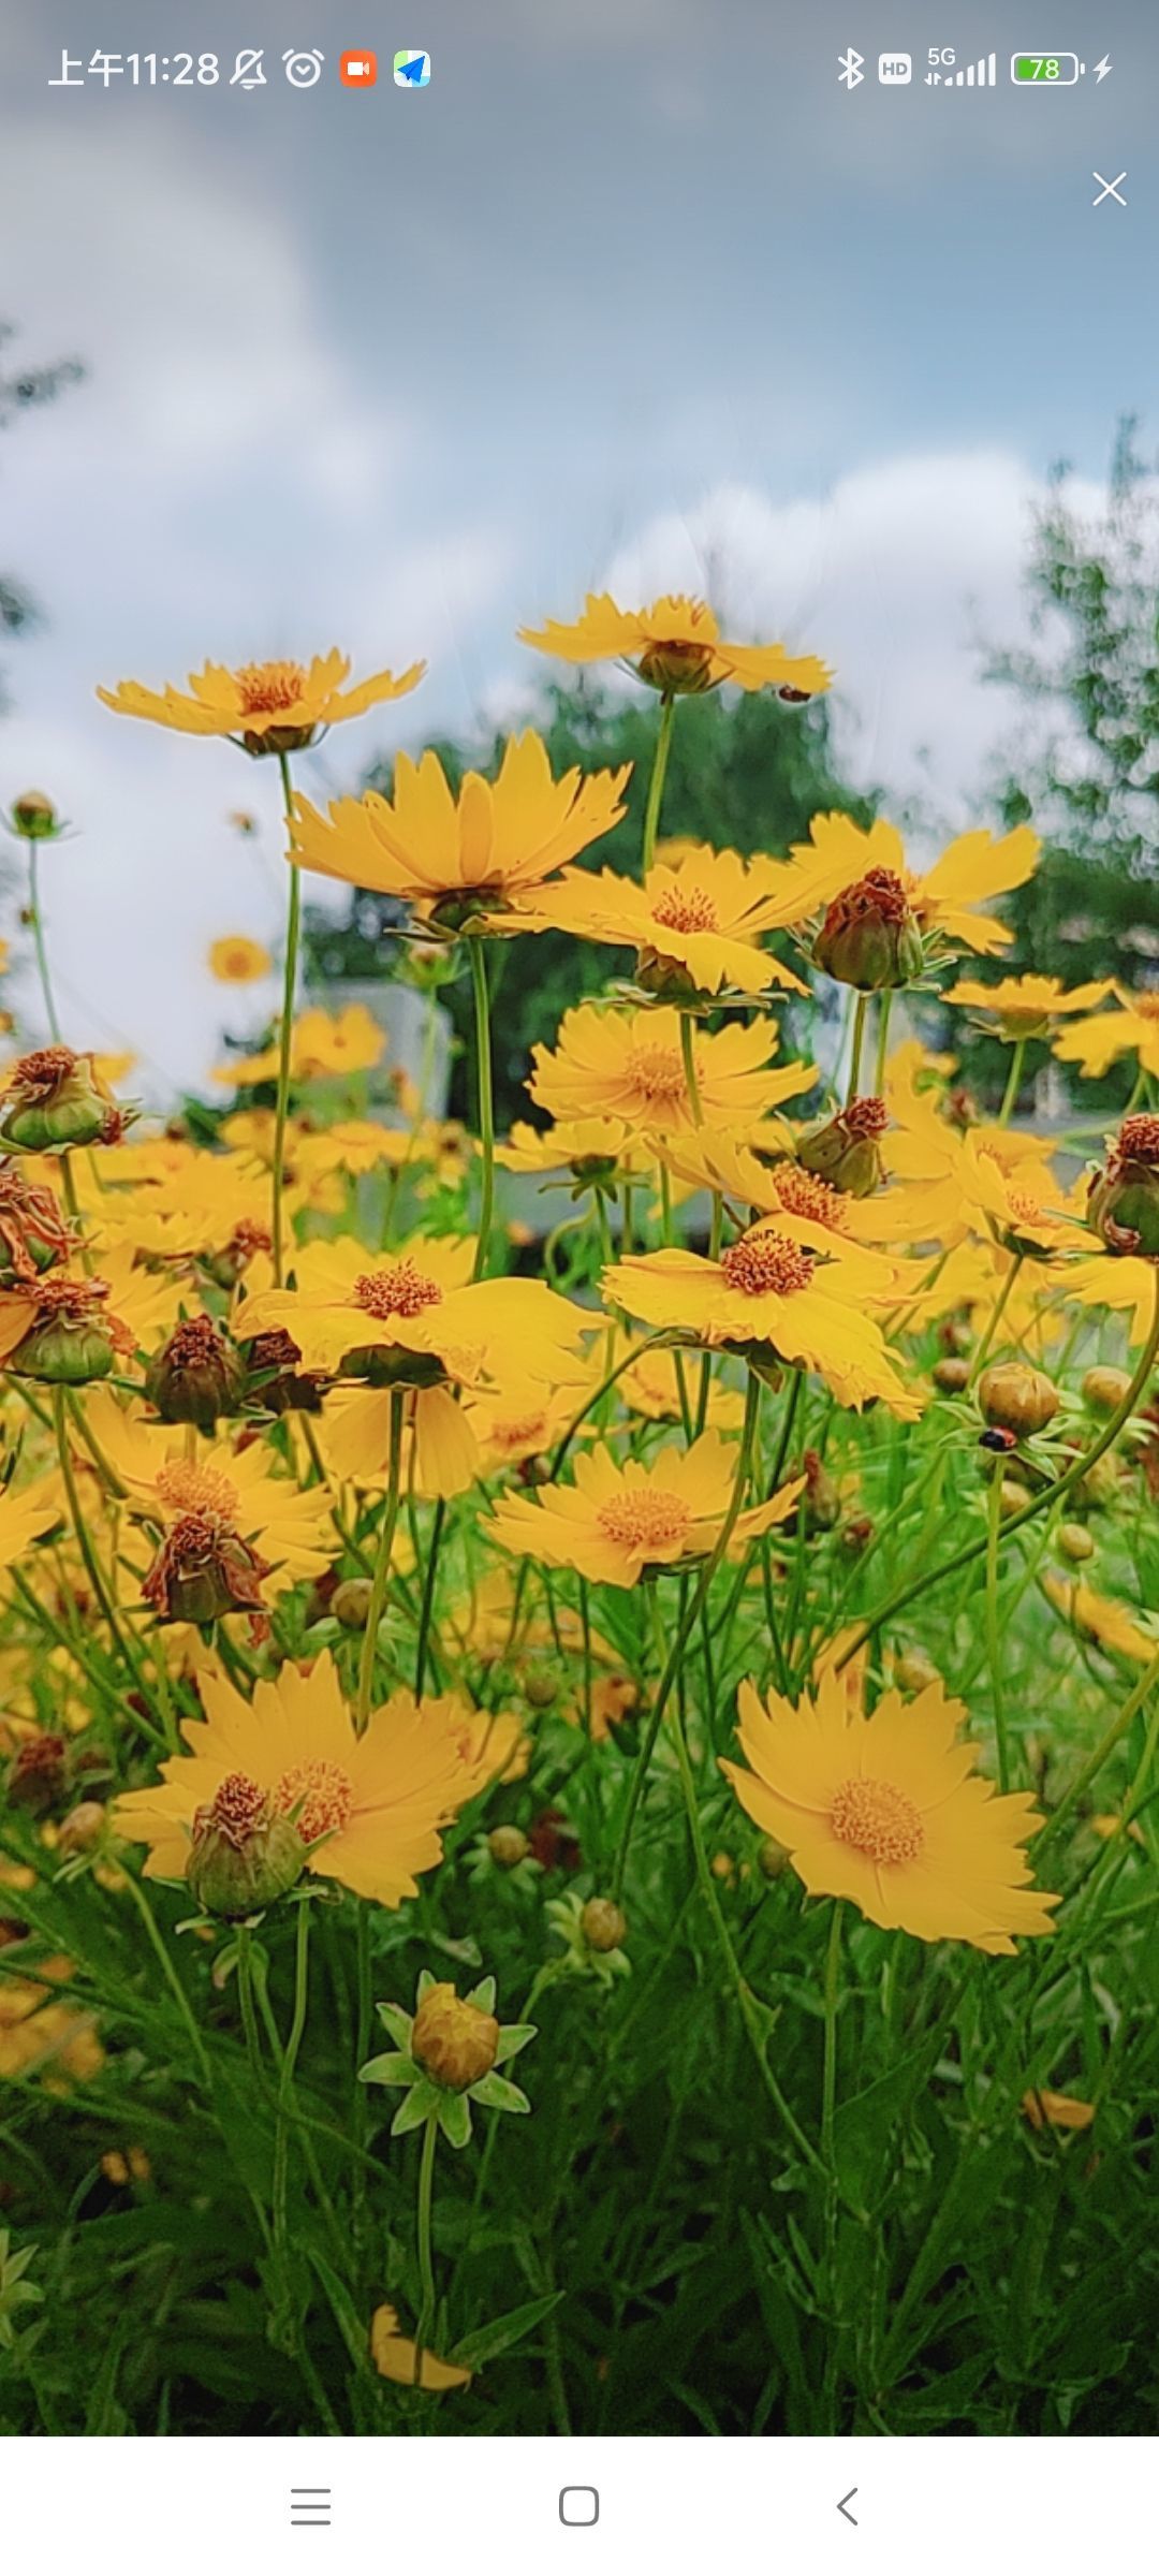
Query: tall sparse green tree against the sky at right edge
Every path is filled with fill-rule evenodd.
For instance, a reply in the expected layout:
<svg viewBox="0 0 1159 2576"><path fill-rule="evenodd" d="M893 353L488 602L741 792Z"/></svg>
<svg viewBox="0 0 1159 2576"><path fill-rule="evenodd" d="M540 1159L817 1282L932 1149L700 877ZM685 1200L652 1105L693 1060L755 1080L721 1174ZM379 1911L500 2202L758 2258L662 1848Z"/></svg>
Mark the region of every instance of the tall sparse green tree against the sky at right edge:
<svg viewBox="0 0 1159 2576"><path fill-rule="evenodd" d="M1004 904L1010 971L1146 987L1159 974L1159 477L1133 420L1120 422L1100 518L1079 513L1066 466L1051 477L1025 587L1030 641L986 657L986 677L1025 703L1004 819L1043 837L1035 876ZM994 1092L1002 1059L979 1041L968 1077ZM1028 1077L1043 1061L1046 1046L1033 1048ZM1126 1059L1082 1095L1115 1110L1131 1082Z"/></svg>

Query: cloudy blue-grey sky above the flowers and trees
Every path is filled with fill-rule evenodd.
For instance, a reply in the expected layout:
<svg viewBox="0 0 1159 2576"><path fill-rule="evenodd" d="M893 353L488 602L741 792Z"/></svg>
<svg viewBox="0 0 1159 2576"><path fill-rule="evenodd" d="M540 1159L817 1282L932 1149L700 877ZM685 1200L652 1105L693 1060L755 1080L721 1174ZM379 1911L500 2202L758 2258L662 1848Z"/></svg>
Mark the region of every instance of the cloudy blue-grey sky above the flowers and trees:
<svg viewBox="0 0 1159 2576"><path fill-rule="evenodd" d="M840 667L855 775L958 822L1010 711L974 634L1020 618L1056 456L1097 505L1115 417L1159 435L1159 28L1051 8L1089 64L1010 88L1010 10L816 0L108 0L111 52L265 46L255 93L113 80L93 10L10 0L0 82L5 309L90 381L5 440L0 556L41 595L8 654L0 801L46 786L77 837L46 912L77 1036L152 1087L214 1056L201 958L281 907L273 781L229 747L118 724L98 680L340 641L428 654L397 719L330 737L314 788L422 729L515 719L513 631L711 582L747 634ZM1030 28L1033 33L1033 28ZM871 77L850 95L837 52ZM922 82L930 41L999 54L994 93ZM283 46L319 46L291 90ZM345 93L337 54L379 52ZM394 90L397 44L433 52ZM907 46L909 90L876 54ZM1092 170L1128 170L1128 211ZM306 768L306 765L304 765ZM229 806L270 811L240 848Z"/></svg>

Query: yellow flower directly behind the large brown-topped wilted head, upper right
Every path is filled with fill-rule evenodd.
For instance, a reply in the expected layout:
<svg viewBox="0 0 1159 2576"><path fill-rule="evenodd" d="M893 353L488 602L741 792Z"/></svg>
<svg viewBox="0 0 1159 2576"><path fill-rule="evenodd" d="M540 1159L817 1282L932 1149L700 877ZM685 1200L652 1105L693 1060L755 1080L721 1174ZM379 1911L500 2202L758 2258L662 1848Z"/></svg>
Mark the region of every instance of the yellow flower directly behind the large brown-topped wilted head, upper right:
<svg viewBox="0 0 1159 2576"><path fill-rule="evenodd" d="M1012 940L1012 930L979 912L979 904L1025 886L1041 848L1025 824L1002 840L963 832L925 876L914 876L891 822L878 819L863 832L847 814L814 814L809 835L793 848L791 871L786 868L783 920L806 922L822 909L829 920L842 899L853 902L868 889L881 891L881 902L901 902L917 930L938 935L940 945L974 948L979 956Z"/></svg>

